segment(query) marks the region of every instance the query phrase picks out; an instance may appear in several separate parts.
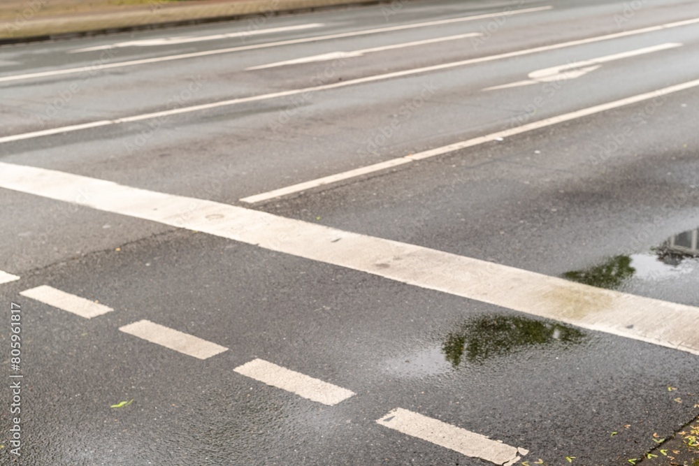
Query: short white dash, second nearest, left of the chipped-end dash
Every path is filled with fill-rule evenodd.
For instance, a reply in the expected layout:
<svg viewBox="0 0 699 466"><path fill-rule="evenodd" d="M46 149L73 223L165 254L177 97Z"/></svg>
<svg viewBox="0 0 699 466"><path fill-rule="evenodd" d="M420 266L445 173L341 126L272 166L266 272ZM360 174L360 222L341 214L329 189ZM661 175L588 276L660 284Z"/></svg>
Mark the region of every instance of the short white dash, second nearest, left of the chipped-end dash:
<svg viewBox="0 0 699 466"><path fill-rule="evenodd" d="M279 365L268 363L262 359L254 359L233 369L238 374L264 382L267 385L296 393L307 400L323 405L337 405L354 395L347 388L338 387L308 375L289 370Z"/></svg>

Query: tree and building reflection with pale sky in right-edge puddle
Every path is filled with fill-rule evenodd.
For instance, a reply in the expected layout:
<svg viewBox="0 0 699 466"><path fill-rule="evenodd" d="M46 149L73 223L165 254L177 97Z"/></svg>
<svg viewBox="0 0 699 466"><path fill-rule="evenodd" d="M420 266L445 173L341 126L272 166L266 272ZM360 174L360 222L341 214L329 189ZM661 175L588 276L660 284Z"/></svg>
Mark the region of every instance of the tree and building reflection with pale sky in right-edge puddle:
<svg viewBox="0 0 699 466"><path fill-rule="evenodd" d="M565 272L563 277L600 288L631 291L648 282L684 278L699 273L699 228L668 238L652 252L614 256L586 270ZM684 277L683 277L684 276ZM667 282L665 282L667 285ZM679 288L679 282L675 282Z"/></svg>

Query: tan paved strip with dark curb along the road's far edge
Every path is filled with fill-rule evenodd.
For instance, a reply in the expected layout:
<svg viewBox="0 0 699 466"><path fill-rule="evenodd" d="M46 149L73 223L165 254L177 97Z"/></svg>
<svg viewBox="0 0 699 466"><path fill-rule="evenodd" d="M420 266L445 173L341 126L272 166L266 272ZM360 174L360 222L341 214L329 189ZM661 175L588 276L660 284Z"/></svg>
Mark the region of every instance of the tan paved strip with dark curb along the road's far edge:
<svg viewBox="0 0 699 466"><path fill-rule="evenodd" d="M269 17L283 13L301 13L325 8L376 5L391 0L243 0L215 5L161 6L66 17L0 22L0 45L59 38L73 38L237 20L242 17ZM260 22L261 23L261 22ZM259 24L261 26L262 24Z"/></svg>

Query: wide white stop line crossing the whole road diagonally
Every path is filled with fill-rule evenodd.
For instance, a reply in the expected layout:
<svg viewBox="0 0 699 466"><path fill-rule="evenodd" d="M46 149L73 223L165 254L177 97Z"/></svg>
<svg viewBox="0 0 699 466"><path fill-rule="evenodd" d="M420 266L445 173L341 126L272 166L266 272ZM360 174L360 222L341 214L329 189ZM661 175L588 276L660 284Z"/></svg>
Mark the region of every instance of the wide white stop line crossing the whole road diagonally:
<svg viewBox="0 0 699 466"><path fill-rule="evenodd" d="M699 355L696 331L699 307L598 289L245 207L127 187L45 168L0 162L0 188L201 231ZM89 196L76 196L79 192L87 192Z"/></svg>

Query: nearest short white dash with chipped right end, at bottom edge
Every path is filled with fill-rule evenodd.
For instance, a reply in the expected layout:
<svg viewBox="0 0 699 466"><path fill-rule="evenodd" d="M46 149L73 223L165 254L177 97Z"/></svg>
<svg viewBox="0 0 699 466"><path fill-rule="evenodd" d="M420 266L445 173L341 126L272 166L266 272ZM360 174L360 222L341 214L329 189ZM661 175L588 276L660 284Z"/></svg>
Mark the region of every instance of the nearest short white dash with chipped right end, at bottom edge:
<svg viewBox="0 0 699 466"><path fill-rule="evenodd" d="M408 411L408 409L396 408L376 422L405 435L458 451L464 456L490 461L496 465L514 465L521 456L529 453L525 449L491 440L485 435Z"/></svg>

